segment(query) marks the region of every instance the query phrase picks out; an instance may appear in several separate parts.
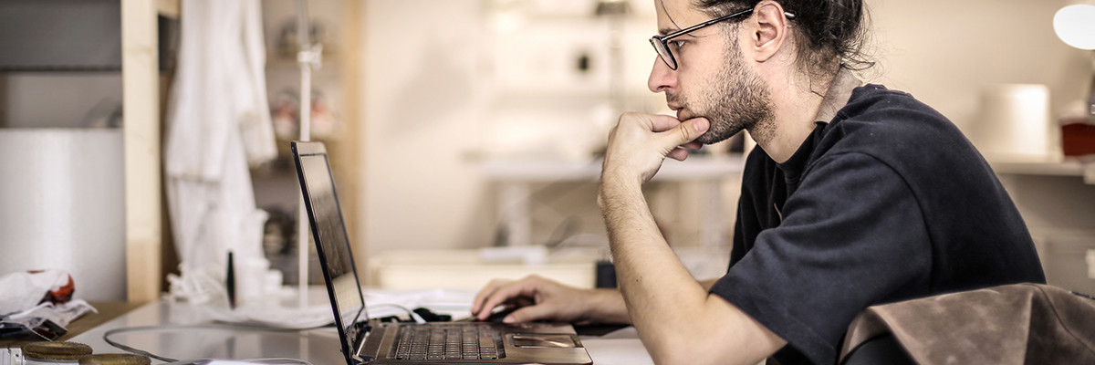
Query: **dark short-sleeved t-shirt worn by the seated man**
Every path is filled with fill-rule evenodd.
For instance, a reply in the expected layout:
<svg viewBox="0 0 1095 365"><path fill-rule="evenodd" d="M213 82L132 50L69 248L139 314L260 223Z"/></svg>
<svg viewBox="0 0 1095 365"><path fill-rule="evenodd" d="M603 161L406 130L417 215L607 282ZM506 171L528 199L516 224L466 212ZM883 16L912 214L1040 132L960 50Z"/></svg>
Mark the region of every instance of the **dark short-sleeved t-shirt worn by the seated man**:
<svg viewBox="0 0 1095 365"><path fill-rule="evenodd" d="M833 364L864 308L1045 283L1034 242L989 164L946 117L881 85L788 161L746 162L730 267L711 289L788 345L783 365Z"/></svg>

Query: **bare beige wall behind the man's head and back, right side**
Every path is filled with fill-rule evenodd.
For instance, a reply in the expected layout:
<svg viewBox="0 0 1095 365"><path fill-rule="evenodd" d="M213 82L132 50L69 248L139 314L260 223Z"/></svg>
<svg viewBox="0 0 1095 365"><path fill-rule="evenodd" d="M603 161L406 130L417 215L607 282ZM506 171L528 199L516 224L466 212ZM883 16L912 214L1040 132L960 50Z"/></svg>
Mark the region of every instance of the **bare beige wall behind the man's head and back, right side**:
<svg viewBox="0 0 1095 365"><path fill-rule="evenodd" d="M977 117L981 89L1044 83L1052 110L1087 87L1091 55L1053 34L1064 0L868 0L878 81L909 91L959 127Z"/></svg>

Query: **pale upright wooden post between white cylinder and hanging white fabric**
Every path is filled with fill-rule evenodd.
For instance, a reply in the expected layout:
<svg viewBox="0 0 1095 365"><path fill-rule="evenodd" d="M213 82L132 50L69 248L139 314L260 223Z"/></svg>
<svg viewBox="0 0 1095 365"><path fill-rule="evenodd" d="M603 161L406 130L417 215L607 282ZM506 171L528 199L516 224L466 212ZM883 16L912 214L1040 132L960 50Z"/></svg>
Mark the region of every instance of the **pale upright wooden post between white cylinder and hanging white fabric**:
<svg viewBox="0 0 1095 365"><path fill-rule="evenodd" d="M122 0L126 280L130 303L161 292L160 84L154 0Z"/></svg>

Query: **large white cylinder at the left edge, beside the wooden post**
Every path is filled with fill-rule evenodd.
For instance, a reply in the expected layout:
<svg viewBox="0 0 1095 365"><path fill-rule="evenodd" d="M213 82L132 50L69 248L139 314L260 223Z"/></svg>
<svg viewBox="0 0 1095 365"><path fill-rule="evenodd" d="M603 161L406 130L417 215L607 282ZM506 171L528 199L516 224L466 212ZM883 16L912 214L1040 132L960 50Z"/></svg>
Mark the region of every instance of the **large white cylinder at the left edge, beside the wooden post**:
<svg viewBox="0 0 1095 365"><path fill-rule="evenodd" d="M122 129L0 129L0 272L60 269L126 299Z"/></svg>

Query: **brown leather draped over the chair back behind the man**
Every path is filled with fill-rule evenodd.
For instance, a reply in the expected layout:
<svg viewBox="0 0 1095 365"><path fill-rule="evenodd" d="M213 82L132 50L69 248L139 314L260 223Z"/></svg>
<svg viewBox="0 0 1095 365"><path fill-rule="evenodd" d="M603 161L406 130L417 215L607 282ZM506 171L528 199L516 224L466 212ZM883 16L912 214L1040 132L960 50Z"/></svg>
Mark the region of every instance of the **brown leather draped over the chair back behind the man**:
<svg viewBox="0 0 1095 365"><path fill-rule="evenodd" d="M840 364L1095 364L1095 300L1013 284L873 306Z"/></svg>

